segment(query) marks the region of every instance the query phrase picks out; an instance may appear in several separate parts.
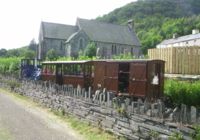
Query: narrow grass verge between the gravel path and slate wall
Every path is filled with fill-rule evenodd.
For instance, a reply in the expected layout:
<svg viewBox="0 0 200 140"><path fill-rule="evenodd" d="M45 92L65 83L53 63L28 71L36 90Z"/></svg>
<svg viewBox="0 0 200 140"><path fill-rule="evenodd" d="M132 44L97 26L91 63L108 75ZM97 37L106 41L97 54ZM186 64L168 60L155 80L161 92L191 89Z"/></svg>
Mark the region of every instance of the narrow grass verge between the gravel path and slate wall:
<svg viewBox="0 0 200 140"><path fill-rule="evenodd" d="M21 102L25 105L28 105L32 108L38 107L42 109L42 111L46 111L48 114L50 114L52 117L52 120L59 120L60 122L66 123L67 126L72 128L73 130L76 130L81 136L83 136L84 139L86 140L115 140L115 139L120 139L123 140L123 138L118 138L112 133L106 132L100 128L91 126L87 122L83 122L76 118L75 116L72 115L64 115L62 111L55 111L49 108L45 108L44 106L40 105L39 103L36 103L32 101L30 98L26 96L22 96L16 93L12 93L8 90L5 89L0 89L0 92L5 93L18 102ZM1 129L0 129L1 130ZM1 140L1 134L0 134L0 140ZM4 140L4 139L2 139ZM7 140L7 139L5 139ZM8 139L10 140L10 139Z"/></svg>

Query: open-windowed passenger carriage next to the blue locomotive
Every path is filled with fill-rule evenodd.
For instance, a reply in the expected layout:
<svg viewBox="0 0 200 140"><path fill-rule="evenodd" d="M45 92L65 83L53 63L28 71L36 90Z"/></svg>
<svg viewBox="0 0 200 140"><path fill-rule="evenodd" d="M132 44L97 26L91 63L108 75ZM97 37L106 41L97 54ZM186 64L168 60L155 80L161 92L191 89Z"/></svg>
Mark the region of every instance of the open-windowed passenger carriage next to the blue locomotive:
<svg viewBox="0 0 200 140"><path fill-rule="evenodd" d="M59 85L71 84L88 88L92 85L92 61L50 61L42 63L42 80Z"/></svg>

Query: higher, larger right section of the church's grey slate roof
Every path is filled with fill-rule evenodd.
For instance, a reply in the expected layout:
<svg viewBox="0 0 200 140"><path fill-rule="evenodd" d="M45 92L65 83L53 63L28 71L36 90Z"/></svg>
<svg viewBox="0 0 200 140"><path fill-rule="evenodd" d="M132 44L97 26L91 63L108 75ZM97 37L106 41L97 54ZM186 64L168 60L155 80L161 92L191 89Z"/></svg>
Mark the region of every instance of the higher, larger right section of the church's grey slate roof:
<svg viewBox="0 0 200 140"><path fill-rule="evenodd" d="M141 46L134 31L125 25L115 25L78 18L77 26L93 41Z"/></svg>

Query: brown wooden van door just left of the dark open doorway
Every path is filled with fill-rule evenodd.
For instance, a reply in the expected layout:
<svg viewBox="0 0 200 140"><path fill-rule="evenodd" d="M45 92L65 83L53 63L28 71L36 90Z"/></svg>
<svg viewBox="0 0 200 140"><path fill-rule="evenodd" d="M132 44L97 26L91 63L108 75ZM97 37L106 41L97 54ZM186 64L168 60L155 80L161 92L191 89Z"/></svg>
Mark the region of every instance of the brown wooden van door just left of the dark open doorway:
<svg viewBox="0 0 200 140"><path fill-rule="evenodd" d="M105 87L109 91L118 93L118 63L108 62L105 69Z"/></svg>

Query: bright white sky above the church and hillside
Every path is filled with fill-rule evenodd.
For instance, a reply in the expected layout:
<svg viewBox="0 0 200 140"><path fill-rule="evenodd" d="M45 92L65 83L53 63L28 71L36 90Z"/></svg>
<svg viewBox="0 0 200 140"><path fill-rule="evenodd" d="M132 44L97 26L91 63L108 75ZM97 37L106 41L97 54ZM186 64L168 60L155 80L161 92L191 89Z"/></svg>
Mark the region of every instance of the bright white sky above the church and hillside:
<svg viewBox="0 0 200 140"><path fill-rule="evenodd" d="M135 0L1 0L0 49L38 42L41 21L75 25L77 17L95 19Z"/></svg>

